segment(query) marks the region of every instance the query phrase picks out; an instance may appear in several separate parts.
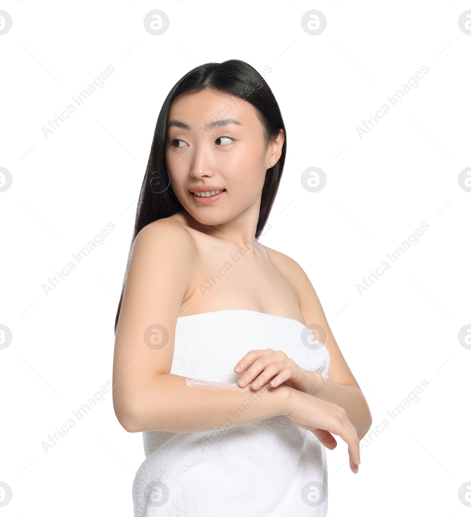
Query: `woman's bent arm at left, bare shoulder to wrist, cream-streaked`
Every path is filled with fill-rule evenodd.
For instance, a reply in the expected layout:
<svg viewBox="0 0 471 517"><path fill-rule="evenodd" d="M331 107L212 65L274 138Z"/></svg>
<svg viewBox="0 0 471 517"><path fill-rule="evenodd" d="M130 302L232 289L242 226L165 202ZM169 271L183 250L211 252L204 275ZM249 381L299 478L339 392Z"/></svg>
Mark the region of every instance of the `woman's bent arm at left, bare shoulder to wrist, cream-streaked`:
<svg viewBox="0 0 471 517"><path fill-rule="evenodd" d="M175 327L181 302L191 292L196 258L193 237L173 221L150 223L134 240L113 360L113 406L129 432L212 431L290 410L294 390L287 386L258 394L250 387L199 388L170 373L173 360L185 361L174 358ZM150 341L154 335L155 342L157 325L168 331L165 346Z"/></svg>

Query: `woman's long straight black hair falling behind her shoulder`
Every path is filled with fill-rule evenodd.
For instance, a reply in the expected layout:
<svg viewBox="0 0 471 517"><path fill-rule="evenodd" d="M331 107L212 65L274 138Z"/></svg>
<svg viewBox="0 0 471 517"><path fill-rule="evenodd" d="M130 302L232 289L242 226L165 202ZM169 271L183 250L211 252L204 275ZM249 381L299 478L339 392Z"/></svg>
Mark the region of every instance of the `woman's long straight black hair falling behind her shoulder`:
<svg viewBox="0 0 471 517"><path fill-rule="evenodd" d="M206 63L193 68L170 90L157 118L154 139L150 146L149 160L136 210L134 231L114 324L115 333L118 326L121 302L123 301L132 244L136 235L147 224L158 219L170 217L183 208L183 205L178 201L170 186L170 177L165 169L166 126L170 105L181 96L192 95L208 88L218 93L233 95L240 102L242 100L250 102L262 122L266 145L271 140L277 138L280 129L283 130L284 143L280 159L274 167L267 169L267 174L265 175L255 238L258 239L262 233L275 201L286 157L286 130L278 102L270 87L255 68L240 59L229 59L223 63Z"/></svg>

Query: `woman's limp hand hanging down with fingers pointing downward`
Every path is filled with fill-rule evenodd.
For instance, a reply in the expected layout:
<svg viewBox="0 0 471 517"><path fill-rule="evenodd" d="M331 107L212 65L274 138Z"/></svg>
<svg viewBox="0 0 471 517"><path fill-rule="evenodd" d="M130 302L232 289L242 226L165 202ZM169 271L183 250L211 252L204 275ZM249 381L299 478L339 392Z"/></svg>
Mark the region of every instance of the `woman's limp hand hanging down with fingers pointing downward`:
<svg viewBox="0 0 471 517"><path fill-rule="evenodd" d="M337 447L337 440L332 434L339 435L348 445L350 469L357 474L360 440L345 409L300 391L292 391L290 397L290 409L286 416L301 429L311 431L330 450Z"/></svg>

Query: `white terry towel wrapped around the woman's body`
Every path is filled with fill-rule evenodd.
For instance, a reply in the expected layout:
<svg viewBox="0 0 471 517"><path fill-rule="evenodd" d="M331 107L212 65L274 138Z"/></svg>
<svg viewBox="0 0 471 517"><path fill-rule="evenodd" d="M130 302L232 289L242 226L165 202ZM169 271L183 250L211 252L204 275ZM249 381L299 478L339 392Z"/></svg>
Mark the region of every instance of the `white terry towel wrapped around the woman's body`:
<svg viewBox="0 0 471 517"><path fill-rule="evenodd" d="M262 348L282 350L327 378L329 353L307 327L240 309L179 317L171 373L237 383L237 362ZM314 434L286 416L223 431L143 432L146 459L132 486L134 516L327 515L326 451Z"/></svg>

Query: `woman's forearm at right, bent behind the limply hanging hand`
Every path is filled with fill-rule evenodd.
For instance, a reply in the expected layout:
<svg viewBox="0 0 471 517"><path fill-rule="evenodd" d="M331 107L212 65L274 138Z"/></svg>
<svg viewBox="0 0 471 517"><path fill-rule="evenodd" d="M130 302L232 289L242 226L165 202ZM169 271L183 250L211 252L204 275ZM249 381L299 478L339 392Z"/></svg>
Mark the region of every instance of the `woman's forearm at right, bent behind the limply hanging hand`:
<svg viewBox="0 0 471 517"><path fill-rule="evenodd" d="M350 384L338 384L324 378L318 372L305 370L313 381L311 394L318 399L343 407L361 440L370 429L372 418L368 403L360 388Z"/></svg>

